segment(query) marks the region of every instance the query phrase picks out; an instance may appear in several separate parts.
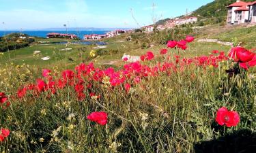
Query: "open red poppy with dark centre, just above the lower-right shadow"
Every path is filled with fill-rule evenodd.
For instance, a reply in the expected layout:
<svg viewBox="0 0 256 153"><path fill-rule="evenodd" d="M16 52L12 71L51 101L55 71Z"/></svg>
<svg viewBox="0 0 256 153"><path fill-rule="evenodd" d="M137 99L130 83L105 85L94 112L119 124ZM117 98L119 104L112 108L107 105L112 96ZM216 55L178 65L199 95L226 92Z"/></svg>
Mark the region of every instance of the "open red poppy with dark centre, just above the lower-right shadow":
<svg viewBox="0 0 256 153"><path fill-rule="evenodd" d="M218 109L216 122L223 126L224 124L227 127L237 126L238 122L240 121L240 116L237 112L229 111L225 107L221 107Z"/></svg>

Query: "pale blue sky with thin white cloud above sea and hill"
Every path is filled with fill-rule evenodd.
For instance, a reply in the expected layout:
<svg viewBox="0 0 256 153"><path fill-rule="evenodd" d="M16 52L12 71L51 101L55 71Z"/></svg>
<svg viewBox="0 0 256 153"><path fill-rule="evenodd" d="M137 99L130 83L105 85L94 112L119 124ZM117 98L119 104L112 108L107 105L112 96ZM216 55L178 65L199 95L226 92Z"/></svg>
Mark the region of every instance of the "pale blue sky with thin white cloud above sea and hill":
<svg viewBox="0 0 256 153"><path fill-rule="evenodd" d="M152 24L153 18L180 16L185 14L186 8L192 12L212 1L0 0L0 30L57 28L63 24L68 27L136 28Z"/></svg>

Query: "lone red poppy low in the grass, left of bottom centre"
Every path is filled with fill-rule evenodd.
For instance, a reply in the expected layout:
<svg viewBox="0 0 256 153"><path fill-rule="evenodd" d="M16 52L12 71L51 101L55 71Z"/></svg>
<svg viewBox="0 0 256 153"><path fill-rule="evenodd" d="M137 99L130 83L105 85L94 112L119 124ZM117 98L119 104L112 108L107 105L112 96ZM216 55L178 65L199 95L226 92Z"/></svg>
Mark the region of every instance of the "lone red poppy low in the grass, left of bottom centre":
<svg viewBox="0 0 256 153"><path fill-rule="evenodd" d="M87 119L100 125L105 125L108 120L108 114L106 112L93 112L87 116Z"/></svg>

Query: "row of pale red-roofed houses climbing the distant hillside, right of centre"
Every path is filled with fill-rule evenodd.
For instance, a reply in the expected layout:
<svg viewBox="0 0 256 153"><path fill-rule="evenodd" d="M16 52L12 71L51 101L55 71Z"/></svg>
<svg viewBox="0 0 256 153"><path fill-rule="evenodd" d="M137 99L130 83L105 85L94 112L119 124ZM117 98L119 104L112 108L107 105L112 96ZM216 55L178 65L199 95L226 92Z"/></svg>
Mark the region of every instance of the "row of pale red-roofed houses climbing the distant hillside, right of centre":
<svg viewBox="0 0 256 153"><path fill-rule="evenodd" d="M197 22L197 17L194 17L194 16L193 17L188 17L188 18L183 18L183 19L175 18L175 19L172 19L172 20L167 20L165 25L159 24L156 27L156 29L158 29L158 30L171 29L175 26L179 26L179 25L182 25L182 24L195 23L195 22ZM152 26L152 25L145 26L143 28L147 32L152 32L154 30L154 26Z"/></svg>

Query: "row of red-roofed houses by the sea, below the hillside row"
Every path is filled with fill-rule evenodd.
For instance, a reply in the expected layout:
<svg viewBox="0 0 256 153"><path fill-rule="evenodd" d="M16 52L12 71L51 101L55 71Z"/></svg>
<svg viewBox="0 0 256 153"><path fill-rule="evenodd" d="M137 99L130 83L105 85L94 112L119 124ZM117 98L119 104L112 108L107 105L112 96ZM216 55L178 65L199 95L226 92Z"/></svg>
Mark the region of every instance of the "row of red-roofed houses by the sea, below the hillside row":
<svg viewBox="0 0 256 153"><path fill-rule="evenodd" d="M132 32L132 31L116 30L116 31L110 31L105 35L97 35L97 34L84 35L83 38L85 40L96 40L96 39L102 39L104 37L115 37L116 35L121 35L122 33L128 33L128 32Z"/></svg>

